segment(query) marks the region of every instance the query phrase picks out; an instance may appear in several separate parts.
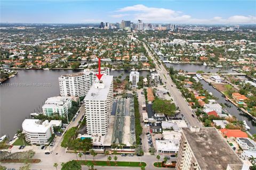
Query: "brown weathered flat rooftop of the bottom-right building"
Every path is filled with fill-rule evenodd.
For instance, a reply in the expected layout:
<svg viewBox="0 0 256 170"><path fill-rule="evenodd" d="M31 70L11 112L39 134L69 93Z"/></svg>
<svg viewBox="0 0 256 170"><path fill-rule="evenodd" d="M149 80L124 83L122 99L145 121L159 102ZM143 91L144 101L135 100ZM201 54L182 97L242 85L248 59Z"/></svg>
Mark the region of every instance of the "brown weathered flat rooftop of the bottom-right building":
<svg viewBox="0 0 256 170"><path fill-rule="evenodd" d="M243 164L215 128L201 128L192 132L182 128L201 169L227 169L228 164Z"/></svg>

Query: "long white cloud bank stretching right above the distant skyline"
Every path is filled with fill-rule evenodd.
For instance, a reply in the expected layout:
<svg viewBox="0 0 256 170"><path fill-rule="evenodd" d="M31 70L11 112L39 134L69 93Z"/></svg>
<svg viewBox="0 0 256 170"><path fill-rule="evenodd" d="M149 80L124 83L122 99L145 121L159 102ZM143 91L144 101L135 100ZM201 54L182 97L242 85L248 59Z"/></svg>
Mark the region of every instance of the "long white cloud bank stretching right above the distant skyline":
<svg viewBox="0 0 256 170"><path fill-rule="evenodd" d="M124 13L125 12L125 13ZM196 19L190 15L185 15L181 11L173 11L167 8L148 7L142 4L126 6L115 11L113 18L131 16L132 20L143 20L143 22L174 22L174 23L256 23L255 16L234 15L227 19L215 16L211 19Z"/></svg>

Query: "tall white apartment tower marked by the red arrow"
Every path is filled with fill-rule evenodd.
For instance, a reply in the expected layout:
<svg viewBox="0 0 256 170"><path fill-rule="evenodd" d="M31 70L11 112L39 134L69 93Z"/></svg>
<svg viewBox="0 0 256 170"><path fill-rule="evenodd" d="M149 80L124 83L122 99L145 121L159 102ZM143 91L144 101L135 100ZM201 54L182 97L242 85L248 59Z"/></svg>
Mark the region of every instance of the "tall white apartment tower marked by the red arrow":
<svg viewBox="0 0 256 170"><path fill-rule="evenodd" d="M113 106L113 75L103 75L84 98L87 134L105 135Z"/></svg>

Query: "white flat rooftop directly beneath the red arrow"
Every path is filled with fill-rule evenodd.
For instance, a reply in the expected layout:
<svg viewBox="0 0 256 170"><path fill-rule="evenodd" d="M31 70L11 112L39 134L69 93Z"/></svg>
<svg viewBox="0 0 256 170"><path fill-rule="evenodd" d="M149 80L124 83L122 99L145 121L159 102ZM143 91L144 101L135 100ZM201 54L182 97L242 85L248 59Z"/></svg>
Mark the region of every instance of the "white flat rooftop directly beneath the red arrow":
<svg viewBox="0 0 256 170"><path fill-rule="evenodd" d="M97 84L99 84L99 81L95 81L92 84L91 89L88 91L87 95L85 96L84 101L107 99L108 92L111 87L111 82L113 81L113 75L103 75L100 81L101 81L101 84L103 84L103 86L97 86Z"/></svg>

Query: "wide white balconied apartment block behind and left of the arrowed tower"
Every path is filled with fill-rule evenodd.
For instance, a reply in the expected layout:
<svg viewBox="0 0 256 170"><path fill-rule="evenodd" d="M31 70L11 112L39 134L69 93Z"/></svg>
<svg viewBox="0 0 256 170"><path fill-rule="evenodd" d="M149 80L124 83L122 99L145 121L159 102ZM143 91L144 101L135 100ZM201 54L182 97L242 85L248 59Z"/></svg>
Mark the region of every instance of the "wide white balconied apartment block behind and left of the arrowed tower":
<svg viewBox="0 0 256 170"><path fill-rule="evenodd" d="M109 68L101 68L101 73L109 75ZM96 80L98 69L64 74L59 77L60 96L85 96Z"/></svg>

